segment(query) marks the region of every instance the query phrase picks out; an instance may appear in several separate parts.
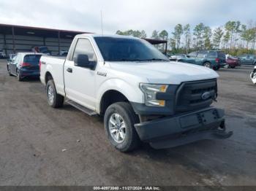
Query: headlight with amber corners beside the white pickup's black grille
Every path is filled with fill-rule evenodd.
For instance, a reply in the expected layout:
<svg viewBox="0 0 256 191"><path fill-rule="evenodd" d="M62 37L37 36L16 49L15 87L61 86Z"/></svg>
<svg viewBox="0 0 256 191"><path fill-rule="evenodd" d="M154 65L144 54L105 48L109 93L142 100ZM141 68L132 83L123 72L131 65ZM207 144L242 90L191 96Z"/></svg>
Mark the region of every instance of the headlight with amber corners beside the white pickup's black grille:
<svg viewBox="0 0 256 191"><path fill-rule="evenodd" d="M157 100L157 93L165 93L168 85L154 85L140 83L140 90L145 95L146 106L165 106L164 100Z"/></svg>

